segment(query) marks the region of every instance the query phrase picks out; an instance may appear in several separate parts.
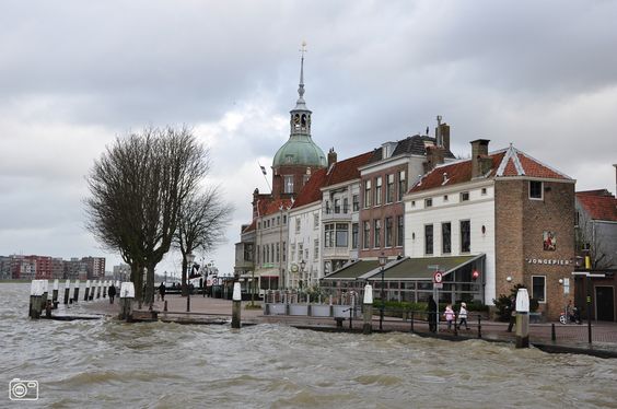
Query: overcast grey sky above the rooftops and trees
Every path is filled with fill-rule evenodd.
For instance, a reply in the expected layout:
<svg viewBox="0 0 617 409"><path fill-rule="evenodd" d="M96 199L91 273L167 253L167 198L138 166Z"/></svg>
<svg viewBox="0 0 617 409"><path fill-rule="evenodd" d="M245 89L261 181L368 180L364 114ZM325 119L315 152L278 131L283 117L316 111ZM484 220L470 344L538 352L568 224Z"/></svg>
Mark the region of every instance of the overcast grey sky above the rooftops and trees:
<svg viewBox="0 0 617 409"><path fill-rule="evenodd" d="M117 136L187 125L236 211L198 261L232 271L289 138L302 40L313 139L339 160L435 126L615 191L615 1L0 2L0 255L107 257L82 204ZM268 178L271 173L268 173ZM161 270L179 271L178 254ZM158 272L162 272L162 271Z"/></svg>

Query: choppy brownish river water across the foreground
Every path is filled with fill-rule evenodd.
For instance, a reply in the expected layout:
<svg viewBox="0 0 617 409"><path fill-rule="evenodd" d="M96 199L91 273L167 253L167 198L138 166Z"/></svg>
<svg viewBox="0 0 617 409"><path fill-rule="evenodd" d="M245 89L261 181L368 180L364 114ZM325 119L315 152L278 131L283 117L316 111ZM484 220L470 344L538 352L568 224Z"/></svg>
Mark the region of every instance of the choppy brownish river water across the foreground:
<svg viewBox="0 0 617 409"><path fill-rule="evenodd" d="M28 290L0 283L1 408L617 408L617 360L278 325L33 322ZM38 400L11 402L13 378L37 381Z"/></svg>

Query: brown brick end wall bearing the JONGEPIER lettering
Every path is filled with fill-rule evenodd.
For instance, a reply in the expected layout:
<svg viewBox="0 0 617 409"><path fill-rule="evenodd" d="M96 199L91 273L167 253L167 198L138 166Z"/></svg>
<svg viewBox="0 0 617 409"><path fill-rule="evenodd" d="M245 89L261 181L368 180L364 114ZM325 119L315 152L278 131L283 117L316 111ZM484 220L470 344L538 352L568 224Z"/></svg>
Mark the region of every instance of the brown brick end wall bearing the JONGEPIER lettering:
<svg viewBox="0 0 617 409"><path fill-rule="evenodd" d="M568 300L574 297L574 184L544 182L543 188L544 199L531 200L528 180L496 183L496 292L509 294L514 284L522 283L531 296L532 276L544 276L546 303L540 304L539 311L554 320ZM544 249L545 231L556 235L554 252ZM532 264L529 259L537 261ZM505 280L509 276L511 283ZM570 279L568 295L559 283L559 279L566 278Z"/></svg>

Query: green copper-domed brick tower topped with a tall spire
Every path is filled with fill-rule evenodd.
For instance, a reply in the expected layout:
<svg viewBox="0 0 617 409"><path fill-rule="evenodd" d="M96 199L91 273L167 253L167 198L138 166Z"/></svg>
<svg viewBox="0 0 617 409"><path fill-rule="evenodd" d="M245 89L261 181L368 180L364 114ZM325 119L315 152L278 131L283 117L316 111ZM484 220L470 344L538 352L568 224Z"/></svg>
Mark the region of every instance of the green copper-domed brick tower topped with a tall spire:
<svg viewBox="0 0 617 409"><path fill-rule="evenodd" d="M295 197L311 177L311 173L326 167L326 155L311 138L311 114L304 102L304 46L300 62L298 102L290 110L289 140L277 151L272 161L272 194L275 197Z"/></svg>

